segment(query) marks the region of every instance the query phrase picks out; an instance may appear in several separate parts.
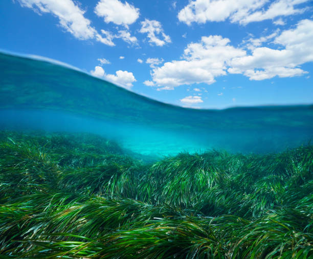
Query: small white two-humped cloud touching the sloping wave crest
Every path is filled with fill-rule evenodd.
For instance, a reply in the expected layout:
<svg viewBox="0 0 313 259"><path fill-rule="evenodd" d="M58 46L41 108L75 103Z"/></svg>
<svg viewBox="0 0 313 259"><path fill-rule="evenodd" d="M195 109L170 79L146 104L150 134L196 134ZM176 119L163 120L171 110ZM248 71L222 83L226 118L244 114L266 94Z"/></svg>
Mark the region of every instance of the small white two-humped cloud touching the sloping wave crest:
<svg viewBox="0 0 313 259"><path fill-rule="evenodd" d="M137 81L131 72L118 70L115 74L106 74L104 69L99 66L96 66L90 73L128 90L132 87L132 83Z"/></svg>

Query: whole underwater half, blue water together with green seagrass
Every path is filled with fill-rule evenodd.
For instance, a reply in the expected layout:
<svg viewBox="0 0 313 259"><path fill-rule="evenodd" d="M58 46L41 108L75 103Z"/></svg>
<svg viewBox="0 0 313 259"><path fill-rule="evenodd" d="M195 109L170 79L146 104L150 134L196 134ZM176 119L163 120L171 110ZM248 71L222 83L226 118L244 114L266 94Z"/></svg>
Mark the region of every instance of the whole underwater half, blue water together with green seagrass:
<svg viewBox="0 0 313 259"><path fill-rule="evenodd" d="M313 258L312 136L0 53L0 258Z"/></svg>

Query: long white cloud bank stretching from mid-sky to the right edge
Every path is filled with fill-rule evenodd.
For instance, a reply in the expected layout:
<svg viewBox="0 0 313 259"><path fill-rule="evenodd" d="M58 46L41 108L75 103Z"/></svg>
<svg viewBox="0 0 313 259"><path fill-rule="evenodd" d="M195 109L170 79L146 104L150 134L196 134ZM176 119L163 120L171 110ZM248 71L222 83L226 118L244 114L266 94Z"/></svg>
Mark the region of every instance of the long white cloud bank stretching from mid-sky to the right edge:
<svg viewBox="0 0 313 259"><path fill-rule="evenodd" d="M263 47L271 39L277 48ZM313 61L313 21L304 19L295 28L251 38L243 47L234 47L228 38L203 36L184 50L183 60L154 67L151 76L159 87L212 84L221 75L243 74L251 80L293 77L307 73L300 65ZM253 47L251 47L253 46ZM250 50L250 51L249 51Z"/></svg>

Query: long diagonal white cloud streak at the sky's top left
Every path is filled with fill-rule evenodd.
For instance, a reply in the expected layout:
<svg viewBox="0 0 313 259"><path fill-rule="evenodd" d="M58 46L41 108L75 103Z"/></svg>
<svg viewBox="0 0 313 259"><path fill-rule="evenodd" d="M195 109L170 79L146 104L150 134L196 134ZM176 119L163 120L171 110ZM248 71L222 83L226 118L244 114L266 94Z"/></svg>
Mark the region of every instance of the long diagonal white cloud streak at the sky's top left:
<svg viewBox="0 0 313 259"><path fill-rule="evenodd" d="M37 13L51 13L58 17L59 25L78 39L96 39L97 41L114 46L106 35L101 36L91 26L91 21L84 17L81 10L72 0L18 0L20 5L33 9Z"/></svg>

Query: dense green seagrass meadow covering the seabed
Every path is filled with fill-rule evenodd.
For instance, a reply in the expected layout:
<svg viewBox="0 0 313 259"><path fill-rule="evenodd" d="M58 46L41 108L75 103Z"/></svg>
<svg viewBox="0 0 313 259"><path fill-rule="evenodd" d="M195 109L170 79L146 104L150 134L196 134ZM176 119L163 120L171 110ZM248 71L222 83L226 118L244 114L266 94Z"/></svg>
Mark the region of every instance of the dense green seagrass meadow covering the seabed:
<svg viewBox="0 0 313 259"><path fill-rule="evenodd" d="M0 258L312 258L312 145L138 157L1 131Z"/></svg>

